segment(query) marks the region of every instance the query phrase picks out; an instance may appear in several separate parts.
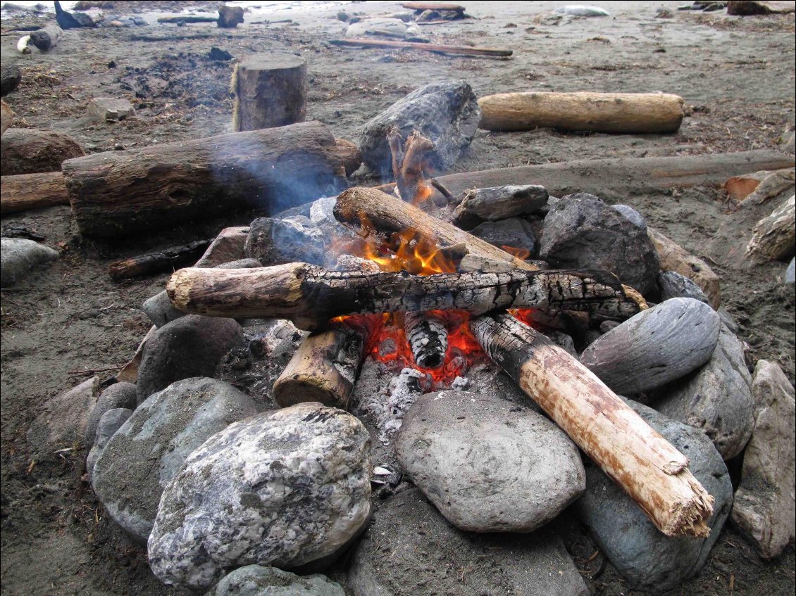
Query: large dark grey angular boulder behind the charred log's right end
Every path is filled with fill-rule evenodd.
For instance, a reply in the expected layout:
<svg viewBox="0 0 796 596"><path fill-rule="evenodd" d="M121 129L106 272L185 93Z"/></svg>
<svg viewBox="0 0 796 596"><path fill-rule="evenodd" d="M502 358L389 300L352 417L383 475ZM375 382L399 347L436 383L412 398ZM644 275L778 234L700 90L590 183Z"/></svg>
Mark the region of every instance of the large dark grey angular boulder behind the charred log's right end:
<svg viewBox="0 0 796 596"><path fill-rule="evenodd" d="M568 195L544 218L540 258L554 268L607 269L646 295L661 269L646 230L594 195Z"/></svg>

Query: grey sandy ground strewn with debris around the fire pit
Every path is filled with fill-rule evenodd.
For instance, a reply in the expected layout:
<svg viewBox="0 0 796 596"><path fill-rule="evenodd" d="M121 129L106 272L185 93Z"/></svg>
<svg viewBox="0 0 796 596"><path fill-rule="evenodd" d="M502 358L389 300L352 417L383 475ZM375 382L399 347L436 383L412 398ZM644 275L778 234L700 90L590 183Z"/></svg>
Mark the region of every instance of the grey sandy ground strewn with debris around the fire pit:
<svg viewBox="0 0 796 596"><path fill-rule="evenodd" d="M506 47L510 60L427 52L346 49L350 15L400 11L391 2L332 2L283 7L247 21L291 23L156 25L78 29L49 54L19 55L19 34L2 22L2 61L18 64L23 80L6 97L15 126L66 132L88 152L131 149L231 130L231 64L207 58L211 47L236 60L287 48L309 66L307 119L326 122L335 137L353 139L357 126L423 83L466 79L477 95L501 91L666 91L685 98L687 118L677 134L560 134L552 130L497 134L478 131L454 171L599 157L688 155L775 149L794 126L794 15L728 17L723 12L656 18L660 6L681 2L599 2L611 17L541 25L537 14L565 2L465 2L474 18L423 27L440 43ZM174 4L173 2L170 4ZM25 19L29 21L29 19ZM97 125L84 118L92 97L123 96L138 116ZM375 183L361 179L360 182ZM588 188L583 188L588 191ZM638 195L630 204L651 225L700 254L728 212L722 192L708 188ZM114 283L107 265L157 247L210 238L224 225L248 224L256 214L230 213L197 226L148 238L99 243L80 238L68 207L6 217L23 223L62 251L2 291L2 594L179 594L150 573L146 551L103 513L84 482L83 457L51 462L29 457L25 433L49 397L88 377L110 377L131 357L150 327L139 305L159 292L166 275ZM785 264L723 276L724 306L739 323L751 355L778 361L794 381L794 296L779 278ZM739 462L731 462L731 467ZM578 524L567 539L594 594L639 594L597 555ZM794 548L767 563L729 527L703 571L673 594L793 594Z"/></svg>

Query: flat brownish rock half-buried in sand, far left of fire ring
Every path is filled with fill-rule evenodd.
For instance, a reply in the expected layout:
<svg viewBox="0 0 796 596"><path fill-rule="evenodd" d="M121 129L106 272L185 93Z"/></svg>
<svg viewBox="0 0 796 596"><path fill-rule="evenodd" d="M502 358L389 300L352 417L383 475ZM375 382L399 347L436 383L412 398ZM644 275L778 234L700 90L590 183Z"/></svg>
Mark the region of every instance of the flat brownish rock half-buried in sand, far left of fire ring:
<svg viewBox="0 0 796 596"><path fill-rule="evenodd" d="M28 430L27 439L33 458L54 457L58 449L80 445L99 389L100 377L91 377L45 402L41 414L36 416Z"/></svg>

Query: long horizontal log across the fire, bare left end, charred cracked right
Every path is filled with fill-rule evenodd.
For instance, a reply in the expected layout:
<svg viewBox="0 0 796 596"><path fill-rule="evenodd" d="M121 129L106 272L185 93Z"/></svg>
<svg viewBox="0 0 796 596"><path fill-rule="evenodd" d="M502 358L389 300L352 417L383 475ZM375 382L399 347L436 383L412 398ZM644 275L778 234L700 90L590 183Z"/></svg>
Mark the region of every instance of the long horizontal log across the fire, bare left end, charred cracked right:
<svg viewBox="0 0 796 596"><path fill-rule="evenodd" d="M306 263L260 269L180 269L166 284L174 308L197 315L291 319L306 331L341 315L457 309L558 308L623 320L641 310L605 271L441 273L329 271Z"/></svg>

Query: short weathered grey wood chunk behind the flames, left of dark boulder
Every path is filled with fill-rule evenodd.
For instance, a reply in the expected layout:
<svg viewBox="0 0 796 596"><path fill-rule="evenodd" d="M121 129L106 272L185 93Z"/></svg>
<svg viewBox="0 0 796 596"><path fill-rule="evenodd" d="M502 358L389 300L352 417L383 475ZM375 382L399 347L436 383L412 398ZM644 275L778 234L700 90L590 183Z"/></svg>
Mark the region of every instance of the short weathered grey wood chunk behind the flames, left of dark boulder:
<svg viewBox="0 0 796 596"><path fill-rule="evenodd" d="M547 190L538 184L474 188L456 206L453 223L470 230L484 221L530 215L544 207L548 198Z"/></svg>

